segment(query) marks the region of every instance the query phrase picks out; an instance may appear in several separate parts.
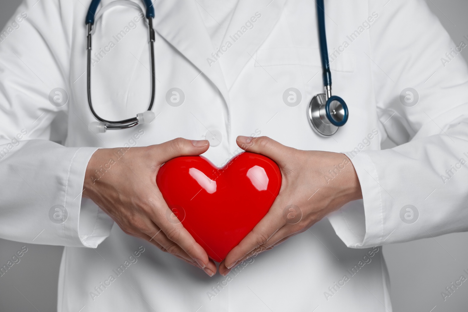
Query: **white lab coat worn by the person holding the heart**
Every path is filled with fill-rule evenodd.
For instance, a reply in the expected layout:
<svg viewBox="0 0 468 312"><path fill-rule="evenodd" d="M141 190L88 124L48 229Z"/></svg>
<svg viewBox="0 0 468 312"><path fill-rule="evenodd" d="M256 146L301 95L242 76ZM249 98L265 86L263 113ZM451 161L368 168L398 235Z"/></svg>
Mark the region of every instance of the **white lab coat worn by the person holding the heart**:
<svg viewBox="0 0 468 312"><path fill-rule="evenodd" d="M325 1L329 51L343 51L330 58L333 94L350 109L332 138L317 136L306 117L323 87L315 3L305 0L240 0L227 35L242 31L256 12L261 17L211 66L207 58L215 50L197 2L156 1L157 117L150 125L95 134L88 129L95 119L85 73L89 2L26 0L15 17L27 17L19 28L6 28L0 43L0 236L66 246L59 312L391 311L385 261L381 247L373 247L467 230L468 174L460 163L468 160L468 71L460 55L446 57L459 44L423 0ZM378 17L371 19L373 12ZM135 116L149 102L146 25L135 23L118 43L112 37L137 15L115 7L95 23L93 52L115 44L92 68L95 109L110 120ZM360 29L368 18L370 28ZM69 96L59 108L49 102L56 87ZM185 95L178 107L166 101L173 87ZM300 90L298 106L283 102L290 87ZM400 102L406 87L417 90L416 106ZM97 148L203 139L208 130L221 135L205 153L219 166L239 152L237 135L265 135L304 150L354 150L348 155L364 199L244 263L227 282L124 234L81 198ZM27 134L12 142L22 131ZM66 136L65 147L49 140L57 134ZM399 146L380 150L385 139ZM63 224L49 218L57 204L68 211ZM417 207L415 223L400 218L407 204ZM129 258L134 252L139 257ZM117 275L121 265L124 273Z"/></svg>

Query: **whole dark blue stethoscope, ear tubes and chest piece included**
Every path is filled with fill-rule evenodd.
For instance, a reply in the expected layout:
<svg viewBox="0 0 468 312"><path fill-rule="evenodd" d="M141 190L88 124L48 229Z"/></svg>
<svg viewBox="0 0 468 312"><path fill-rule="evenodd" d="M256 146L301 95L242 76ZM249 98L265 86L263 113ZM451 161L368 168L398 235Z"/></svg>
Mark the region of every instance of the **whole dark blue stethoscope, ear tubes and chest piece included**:
<svg viewBox="0 0 468 312"><path fill-rule="evenodd" d="M150 43L150 55L151 55L151 100L148 109L137 114L136 117L119 120L109 121L101 118L93 109L91 101L91 35L93 30L93 24L95 21L95 12L99 2L101 0L92 0L86 15L86 24L88 25L88 104L89 109L98 120L94 123L93 127L97 132L105 132L107 129L127 129L134 127L141 123L150 123L154 120L154 113L151 111L154 102L154 91L155 91L155 76L154 76L154 29L153 29L153 17L154 7L150 0L143 0L146 6L146 18L148 19L149 26L149 43ZM113 1L104 8L119 5L121 3L132 3L132 5L140 7L128 0L117 0ZM317 23L319 30L319 44L320 44L320 58L322 59L323 69L323 86L325 93L315 95L309 103L307 108L307 119L314 131L321 136L328 137L338 131L338 127L343 126L348 120L348 107L344 100L336 95L331 95L331 73L328 59L327 49L327 37L325 35L325 11L323 0L316 0L317 4ZM98 18L99 19L99 18Z"/></svg>

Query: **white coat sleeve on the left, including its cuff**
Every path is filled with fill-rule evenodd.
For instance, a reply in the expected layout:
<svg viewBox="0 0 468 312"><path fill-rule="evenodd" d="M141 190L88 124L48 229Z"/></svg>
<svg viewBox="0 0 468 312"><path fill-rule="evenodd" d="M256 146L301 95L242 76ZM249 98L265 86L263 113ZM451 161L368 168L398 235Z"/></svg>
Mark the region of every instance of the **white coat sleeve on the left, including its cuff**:
<svg viewBox="0 0 468 312"><path fill-rule="evenodd" d="M64 147L49 140L52 120L73 114L69 103L58 107L53 97L60 94L51 92L58 87L70 90L73 83L68 79L72 21L67 18L73 16L67 11L72 8L57 0L27 0L0 36L3 239L96 247L113 224L97 208L81 209L85 170L97 148Z"/></svg>

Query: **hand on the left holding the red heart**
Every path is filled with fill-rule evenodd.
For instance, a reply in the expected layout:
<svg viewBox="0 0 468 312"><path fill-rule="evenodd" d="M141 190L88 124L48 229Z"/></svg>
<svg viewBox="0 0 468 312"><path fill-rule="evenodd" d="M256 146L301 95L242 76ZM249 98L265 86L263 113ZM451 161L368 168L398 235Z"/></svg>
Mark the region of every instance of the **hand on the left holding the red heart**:
<svg viewBox="0 0 468 312"><path fill-rule="evenodd" d="M86 168L83 196L90 198L127 234L145 239L174 254L209 276L216 265L172 214L156 185L156 174L166 161L199 155L207 140L176 138L159 145L97 150Z"/></svg>

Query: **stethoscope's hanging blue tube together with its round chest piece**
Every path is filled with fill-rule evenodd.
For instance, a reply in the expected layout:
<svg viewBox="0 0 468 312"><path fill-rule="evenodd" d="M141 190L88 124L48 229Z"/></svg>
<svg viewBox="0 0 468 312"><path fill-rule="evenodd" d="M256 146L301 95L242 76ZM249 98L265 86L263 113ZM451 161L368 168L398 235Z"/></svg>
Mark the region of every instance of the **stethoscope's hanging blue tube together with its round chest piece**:
<svg viewBox="0 0 468 312"><path fill-rule="evenodd" d="M331 95L331 72L328 58L327 36L325 33L325 6L323 0L316 0L317 24L322 60L322 78L325 94L317 94L308 107L309 123L322 136L331 136L338 127L348 121L348 106L344 100Z"/></svg>

